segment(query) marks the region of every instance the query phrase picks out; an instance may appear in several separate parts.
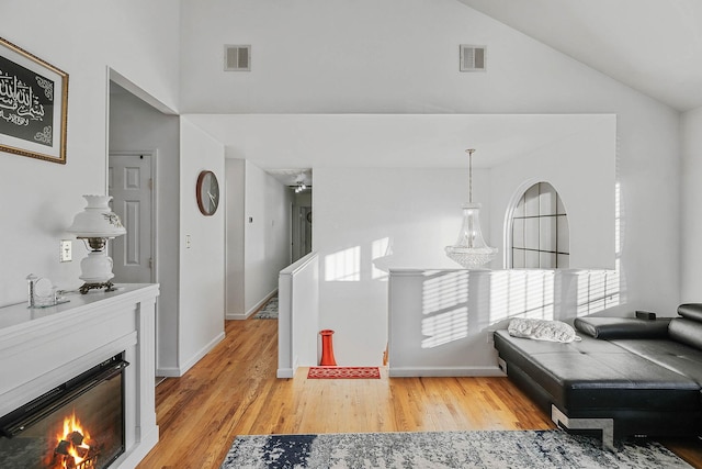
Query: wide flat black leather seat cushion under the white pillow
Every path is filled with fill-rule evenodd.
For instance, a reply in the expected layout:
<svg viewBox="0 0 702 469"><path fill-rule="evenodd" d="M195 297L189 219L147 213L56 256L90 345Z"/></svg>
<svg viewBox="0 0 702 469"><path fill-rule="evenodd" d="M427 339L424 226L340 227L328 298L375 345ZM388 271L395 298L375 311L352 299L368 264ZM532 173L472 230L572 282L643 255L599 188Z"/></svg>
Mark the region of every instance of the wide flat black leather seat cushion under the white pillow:
<svg viewBox="0 0 702 469"><path fill-rule="evenodd" d="M648 409L699 411L697 381L607 340L535 342L495 332L495 346L563 411Z"/></svg>

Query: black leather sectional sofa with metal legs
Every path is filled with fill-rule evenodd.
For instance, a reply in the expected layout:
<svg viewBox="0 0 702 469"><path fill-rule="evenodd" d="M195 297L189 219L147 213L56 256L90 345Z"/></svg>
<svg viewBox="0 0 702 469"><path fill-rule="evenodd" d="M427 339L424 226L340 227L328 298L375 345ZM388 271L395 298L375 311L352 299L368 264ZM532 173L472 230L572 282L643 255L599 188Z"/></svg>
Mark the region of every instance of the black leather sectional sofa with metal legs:
<svg viewBox="0 0 702 469"><path fill-rule="evenodd" d="M702 435L702 304L678 317L579 317L581 342L495 332L500 366L566 429L631 436Z"/></svg>

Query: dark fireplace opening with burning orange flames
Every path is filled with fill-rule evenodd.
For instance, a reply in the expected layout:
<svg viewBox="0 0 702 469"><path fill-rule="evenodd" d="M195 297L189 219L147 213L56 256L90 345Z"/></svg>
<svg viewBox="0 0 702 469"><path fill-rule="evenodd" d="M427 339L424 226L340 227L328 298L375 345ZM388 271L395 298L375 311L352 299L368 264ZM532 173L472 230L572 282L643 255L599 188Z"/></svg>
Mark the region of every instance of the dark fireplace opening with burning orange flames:
<svg viewBox="0 0 702 469"><path fill-rule="evenodd" d="M0 467L109 467L124 453L128 365L115 355L0 417Z"/></svg>

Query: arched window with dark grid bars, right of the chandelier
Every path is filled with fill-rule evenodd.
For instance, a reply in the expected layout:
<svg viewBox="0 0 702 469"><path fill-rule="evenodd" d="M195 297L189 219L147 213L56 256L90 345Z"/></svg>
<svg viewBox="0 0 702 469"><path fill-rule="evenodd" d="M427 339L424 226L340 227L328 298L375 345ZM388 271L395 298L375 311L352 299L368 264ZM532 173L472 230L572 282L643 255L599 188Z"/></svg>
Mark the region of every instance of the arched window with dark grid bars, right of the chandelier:
<svg viewBox="0 0 702 469"><path fill-rule="evenodd" d="M512 214L512 268L569 267L570 231L566 209L548 182L526 189Z"/></svg>

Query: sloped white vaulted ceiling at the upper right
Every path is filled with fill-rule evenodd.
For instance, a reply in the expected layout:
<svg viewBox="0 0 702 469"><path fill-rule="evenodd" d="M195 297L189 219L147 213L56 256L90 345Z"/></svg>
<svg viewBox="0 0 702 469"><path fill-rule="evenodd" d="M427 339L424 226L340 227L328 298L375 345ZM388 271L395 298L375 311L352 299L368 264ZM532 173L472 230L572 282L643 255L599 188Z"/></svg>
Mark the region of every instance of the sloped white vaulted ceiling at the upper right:
<svg viewBox="0 0 702 469"><path fill-rule="evenodd" d="M458 0L677 110L702 107L702 0Z"/></svg>

